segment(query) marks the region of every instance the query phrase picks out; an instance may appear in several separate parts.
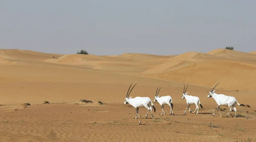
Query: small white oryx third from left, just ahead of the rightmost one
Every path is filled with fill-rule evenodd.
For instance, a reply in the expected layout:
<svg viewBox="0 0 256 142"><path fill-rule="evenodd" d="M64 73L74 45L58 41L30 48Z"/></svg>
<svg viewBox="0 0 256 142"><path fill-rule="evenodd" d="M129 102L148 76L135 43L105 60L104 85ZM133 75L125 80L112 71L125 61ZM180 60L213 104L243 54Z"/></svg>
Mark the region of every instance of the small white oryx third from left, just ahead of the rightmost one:
<svg viewBox="0 0 256 142"><path fill-rule="evenodd" d="M188 85L188 86L189 86L189 85ZM188 86L186 87L186 89L188 88ZM203 109L203 106L202 106L202 104L200 103L200 99L199 99L197 96L189 96L189 95L187 95L189 92L187 92L187 93L185 93L185 92L186 92L186 90L185 90L185 85L184 85L182 99L184 99L184 98L186 99L186 109L187 109L188 107L190 107L191 104L195 104L195 106L196 106L195 110L196 110L196 109L199 110L198 104L200 104L201 108ZM190 113L192 112L192 111L190 110L190 108L189 108L189 112L190 112ZM186 110L185 110L184 113L186 113ZM195 113L195 111L194 111L193 113ZM198 114L198 111L197 111L196 114Z"/></svg>

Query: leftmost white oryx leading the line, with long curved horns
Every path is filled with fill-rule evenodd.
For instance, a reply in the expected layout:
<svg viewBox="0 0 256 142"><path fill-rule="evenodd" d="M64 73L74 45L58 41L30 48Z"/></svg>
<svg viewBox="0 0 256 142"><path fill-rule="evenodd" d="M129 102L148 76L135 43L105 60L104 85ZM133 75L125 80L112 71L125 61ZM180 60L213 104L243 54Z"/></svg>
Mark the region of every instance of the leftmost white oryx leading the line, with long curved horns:
<svg viewBox="0 0 256 142"><path fill-rule="evenodd" d="M132 83L131 83L131 84L132 84ZM136 83L136 84L137 84L137 83ZM136 85L136 84L135 84L135 85ZM135 85L134 85L134 86L135 86ZM129 103L129 104L131 104L133 107L135 107L135 111L136 111L135 113L136 113L137 116L136 116L136 118L134 118L134 119L137 119L138 116L140 117L140 115L138 114L140 107L146 107L146 109L148 109L148 112L149 112L149 110L151 110L151 116L154 117L154 116L153 116L153 112L152 112L152 107L154 108L154 112L156 112L156 108L154 107L154 104L152 103L151 99L148 98L148 97L135 97L135 98L131 99L132 96L129 97L131 91L130 91L130 93L128 94L130 88L131 88L131 86L129 87L129 89L128 89L128 91L127 91L124 104L128 104L128 103ZM131 90L132 90L133 88L134 88L134 87L132 87ZM147 118L147 117L148 117L148 113L146 114L146 117L145 117L145 118Z"/></svg>

